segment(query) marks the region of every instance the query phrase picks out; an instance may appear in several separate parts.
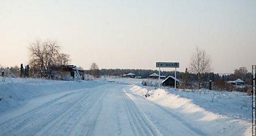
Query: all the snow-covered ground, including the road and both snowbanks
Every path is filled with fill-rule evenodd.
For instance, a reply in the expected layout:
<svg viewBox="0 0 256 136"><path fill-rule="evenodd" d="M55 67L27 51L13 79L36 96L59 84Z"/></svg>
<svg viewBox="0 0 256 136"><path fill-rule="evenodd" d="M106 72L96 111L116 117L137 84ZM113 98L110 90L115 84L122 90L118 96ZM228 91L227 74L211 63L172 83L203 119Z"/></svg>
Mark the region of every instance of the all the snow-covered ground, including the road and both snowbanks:
<svg viewBox="0 0 256 136"><path fill-rule="evenodd" d="M0 135L251 135L244 93L155 90L141 82L1 77Z"/></svg>

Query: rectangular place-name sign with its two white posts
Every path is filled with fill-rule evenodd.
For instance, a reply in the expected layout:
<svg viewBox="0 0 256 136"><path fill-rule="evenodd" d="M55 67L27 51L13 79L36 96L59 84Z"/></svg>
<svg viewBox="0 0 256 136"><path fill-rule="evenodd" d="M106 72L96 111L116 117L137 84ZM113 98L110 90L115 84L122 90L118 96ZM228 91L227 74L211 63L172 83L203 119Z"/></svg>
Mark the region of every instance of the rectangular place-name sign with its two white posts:
<svg viewBox="0 0 256 136"><path fill-rule="evenodd" d="M179 68L179 63L156 63L156 67L159 68L159 75L158 75L159 89L160 89L160 68L175 68L174 89L176 90L176 68Z"/></svg>

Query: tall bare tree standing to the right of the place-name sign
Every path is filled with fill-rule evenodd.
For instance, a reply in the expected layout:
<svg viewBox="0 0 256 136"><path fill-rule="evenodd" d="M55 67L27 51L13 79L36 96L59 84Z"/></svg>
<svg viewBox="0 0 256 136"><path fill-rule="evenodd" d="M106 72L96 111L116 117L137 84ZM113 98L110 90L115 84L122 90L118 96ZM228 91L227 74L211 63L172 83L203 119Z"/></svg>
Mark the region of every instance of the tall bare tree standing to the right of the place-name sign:
<svg viewBox="0 0 256 136"><path fill-rule="evenodd" d="M208 56L204 50L200 50L199 47L196 47L196 52L193 54L190 61L190 72L197 74L199 88L201 88L203 74L211 71L210 56Z"/></svg>

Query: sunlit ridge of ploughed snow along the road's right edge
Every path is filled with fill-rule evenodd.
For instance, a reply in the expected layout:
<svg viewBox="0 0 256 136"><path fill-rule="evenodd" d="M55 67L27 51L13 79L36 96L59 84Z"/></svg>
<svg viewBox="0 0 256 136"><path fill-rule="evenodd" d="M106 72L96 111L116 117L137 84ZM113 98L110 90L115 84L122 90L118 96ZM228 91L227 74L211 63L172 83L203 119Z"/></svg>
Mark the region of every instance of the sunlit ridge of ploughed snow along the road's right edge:
<svg viewBox="0 0 256 136"><path fill-rule="evenodd" d="M192 97L194 99L198 98L197 101L201 101L201 104L194 104L193 99L181 97L178 91L176 91L176 94L172 94L172 91L168 92L163 89L148 90L140 86L131 86L130 90L133 94L140 95L141 97L145 97L146 94L150 94L149 97L145 97L146 100L165 107L166 110L170 111L170 113L174 116L181 116L182 119L190 120L194 127L203 128L203 130L207 130L211 134L251 134L250 121L237 119L236 116L228 117L211 112L215 111L215 106L225 108L225 101L219 101L219 105L212 105L208 108L202 108L201 105L204 105L203 99L200 97ZM189 93L189 95L194 94ZM237 114L239 114L239 112Z"/></svg>

